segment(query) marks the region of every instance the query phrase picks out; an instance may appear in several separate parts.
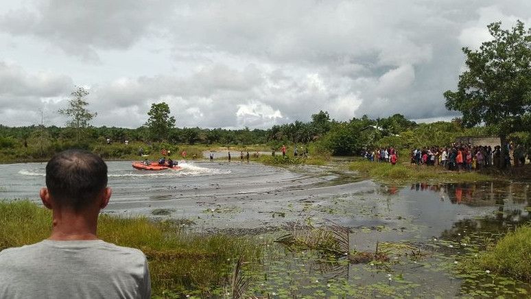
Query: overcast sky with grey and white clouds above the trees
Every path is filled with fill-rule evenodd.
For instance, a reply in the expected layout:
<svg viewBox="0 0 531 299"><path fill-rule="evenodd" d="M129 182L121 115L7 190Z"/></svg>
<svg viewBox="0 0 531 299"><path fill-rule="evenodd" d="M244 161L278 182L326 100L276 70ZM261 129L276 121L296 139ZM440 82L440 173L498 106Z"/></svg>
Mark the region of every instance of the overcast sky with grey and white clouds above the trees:
<svg viewBox="0 0 531 299"><path fill-rule="evenodd" d="M64 125L74 86L98 126L137 128L161 101L178 127L451 119L461 47L517 19L530 0L0 0L0 123Z"/></svg>

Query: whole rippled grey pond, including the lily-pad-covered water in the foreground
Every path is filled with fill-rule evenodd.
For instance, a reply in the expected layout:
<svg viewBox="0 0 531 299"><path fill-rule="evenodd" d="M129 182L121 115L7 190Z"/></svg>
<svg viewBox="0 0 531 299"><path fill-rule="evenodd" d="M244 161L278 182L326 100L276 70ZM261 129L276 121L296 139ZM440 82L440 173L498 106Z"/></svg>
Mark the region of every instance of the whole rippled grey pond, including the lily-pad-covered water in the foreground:
<svg viewBox="0 0 531 299"><path fill-rule="evenodd" d="M457 278L454 263L484 249L486 236L496 239L530 222L531 188L526 183L383 186L341 167L287 170L234 161L179 165L180 171L148 172L128 162L108 162L113 197L104 213L190 219L195 223L191 229L199 232L260 238L266 248L264 265L250 284L257 295L474 294L475 285ZM44 185L44 163L0 165L0 198L39 202ZM332 222L350 228L351 250L374 252L377 243L391 242L418 248L423 255L402 252L390 256L386 265L353 264L311 250L290 251L271 241L294 223ZM486 282L482 285L494 280L475 275L477 283ZM505 290L530 289L521 283L510 286ZM510 296L504 287L481 289L490 291L488 296Z"/></svg>

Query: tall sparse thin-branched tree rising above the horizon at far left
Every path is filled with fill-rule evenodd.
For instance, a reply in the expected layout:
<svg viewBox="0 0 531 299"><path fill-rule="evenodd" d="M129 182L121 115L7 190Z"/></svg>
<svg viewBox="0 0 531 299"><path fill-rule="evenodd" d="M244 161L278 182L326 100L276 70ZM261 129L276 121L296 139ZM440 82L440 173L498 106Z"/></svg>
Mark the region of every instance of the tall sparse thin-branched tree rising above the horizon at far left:
<svg viewBox="0 0 531 299"><path fill-rule="evenodd" d="M75 130L76 140L80 142L80 136L84 128L87 128L90 121L96 117L97 112L90 112L86 109L88 101L85 101L88 91L85 88L76 86L74 91L70 94L72 98L69 100L69 106L65 109L60 109L58 112L61 115L70 117L67 125Z"/></svg>

